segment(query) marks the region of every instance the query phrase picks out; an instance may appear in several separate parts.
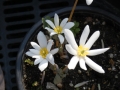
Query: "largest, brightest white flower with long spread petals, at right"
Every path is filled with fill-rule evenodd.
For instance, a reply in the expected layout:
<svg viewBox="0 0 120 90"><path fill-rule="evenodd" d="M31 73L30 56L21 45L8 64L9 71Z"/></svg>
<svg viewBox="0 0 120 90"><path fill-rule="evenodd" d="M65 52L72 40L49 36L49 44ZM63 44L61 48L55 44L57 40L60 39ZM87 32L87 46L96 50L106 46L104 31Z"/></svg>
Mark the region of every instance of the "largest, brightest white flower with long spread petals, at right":
<svg viewBox="0 0 120 90"><path fill-rule="evenodd" d="M86 42L89 32L90 32L89 26L86 25L80 37L79 46L78 46L73 36L73 33L68 29L64 31L66 40L69 43L65 47L70 54L74 55L68 64L68 68L74 69L79 61L80 67L84 70L87 70L85 65L86 63L89 67L91 67L95 71L99 73L104 73L102 67L96 64L95 62L93 62L89 57L87 57L87 55L88 56L98 55L104 53L109 48L90 50L91 46L98 39L100 32L99 31L94 32L93 35L90 37L90 39Z"/></svg>

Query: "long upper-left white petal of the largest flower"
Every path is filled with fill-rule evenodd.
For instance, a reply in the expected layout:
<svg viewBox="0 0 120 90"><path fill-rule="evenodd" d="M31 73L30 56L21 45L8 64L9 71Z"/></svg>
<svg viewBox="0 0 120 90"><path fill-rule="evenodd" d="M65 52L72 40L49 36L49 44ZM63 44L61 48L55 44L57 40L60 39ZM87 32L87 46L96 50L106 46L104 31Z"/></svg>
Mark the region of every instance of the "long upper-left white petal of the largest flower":
<svg viewBox="0 0 120 90"><path fill-rule="evenodd" d="M73 33L69 29L64 30L65 38L68 41L68 43L73 47L73 49L77 50L78 45L75 41Z"/></svg>

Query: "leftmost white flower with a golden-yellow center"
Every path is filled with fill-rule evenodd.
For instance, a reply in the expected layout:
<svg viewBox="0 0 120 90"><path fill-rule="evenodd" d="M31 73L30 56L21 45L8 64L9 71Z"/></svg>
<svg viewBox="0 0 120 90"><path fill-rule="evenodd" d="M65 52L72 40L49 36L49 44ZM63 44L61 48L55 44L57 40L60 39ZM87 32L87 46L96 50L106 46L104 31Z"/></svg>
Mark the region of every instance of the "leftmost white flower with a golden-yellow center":
<svg viewBox="0 0 120 90"><path fill-rule="evenodd" d="M37 35L38 43L31 42L34 49L29 49L26 55L35 58L34 65L39 64L38 68L43 71L48 66L48 61L54 65L53 55L58 52L58 48L51 50L53 45L53 40L49 40L47 44L47 39L43 32L39 32Z"/></svg>

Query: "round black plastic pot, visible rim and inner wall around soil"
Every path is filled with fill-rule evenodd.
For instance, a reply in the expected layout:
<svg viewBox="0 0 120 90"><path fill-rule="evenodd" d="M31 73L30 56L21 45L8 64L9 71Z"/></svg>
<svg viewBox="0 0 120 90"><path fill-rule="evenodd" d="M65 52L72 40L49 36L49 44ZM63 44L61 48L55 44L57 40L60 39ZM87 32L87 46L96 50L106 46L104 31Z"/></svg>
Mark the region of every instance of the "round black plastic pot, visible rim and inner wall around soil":
<svg viewBox="0 0 120 90"><path fill-rule="evenodd" d="M48 14L47 16L53 17L55 13L57 13L60 17L68 17L70 14L72 7L64 8L55 12L52 12ZM98 9L94 7L84 7L84 6L78 6L76 7L75 13L82 14L82 13L92 13L95 15L98 15L100 17L107 18L109 21L114 22L116 25L119 26L120 24L120 18L116 17L115 15ZM40 20L38 23L36 23L31 30L27 33L24 41L21 44L18 56L17 56L17 64L16 64L16 76L17 76L17 83L18 83L18 90L25 90L24 82L23 82L23 73L22 73L22 63L23 59L25 57L25 52L29 47L29 42L34 40L36 38L35 36L39 31L43 31L42 28L42 21Z"/></svg>

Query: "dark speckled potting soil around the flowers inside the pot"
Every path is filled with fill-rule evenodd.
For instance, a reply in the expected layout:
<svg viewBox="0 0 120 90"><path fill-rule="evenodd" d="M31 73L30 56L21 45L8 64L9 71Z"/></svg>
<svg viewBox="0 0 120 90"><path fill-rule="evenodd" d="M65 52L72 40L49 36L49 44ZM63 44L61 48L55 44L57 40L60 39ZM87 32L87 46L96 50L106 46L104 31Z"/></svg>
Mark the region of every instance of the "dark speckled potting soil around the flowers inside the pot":
<svg viewBox="0 0 120 90"><path fill-rule="evenodd" d="M68 15L65 17L68 17ZM61 18L65 17L64 15L61 16ZM76 36L77 42L79 42L83 28L88 24L90 26L89 37L96 30L100 31L100 37L91 49L102 48L101 41L103 41L105 48L110 47L110 50L104 54L90 57L94 62L103 67L105 74L97 73L87 65L88 70L84 71L78 64L75 70L68 70L66 77L63 78L61 83L62 87L58 87L59 90L120 90L120 26L109 18L98 14L81 13L79 15L75 13L72 20L80 23L80 33ZM31 48L31 46L28 48ZM30 57L25 56L24 59L26 58ZM64 68L69 63L69 59L60 59L59 54L55 54L54 58L59 68ZM30 59L34 61L32 58ZM38 69L38 65L30 66L27 63L23 63L23 82L26 90L49 90L46 89L47 82L53 83L54 77L55 74L48 67L45 70L45 79L41 86L42 72ZM35 81L38 82L38 85L32 86ZM74 85L84 81L89 82L77 89L74 88ZM70 83L73 84L73 87L69 85Z"/></svg>

